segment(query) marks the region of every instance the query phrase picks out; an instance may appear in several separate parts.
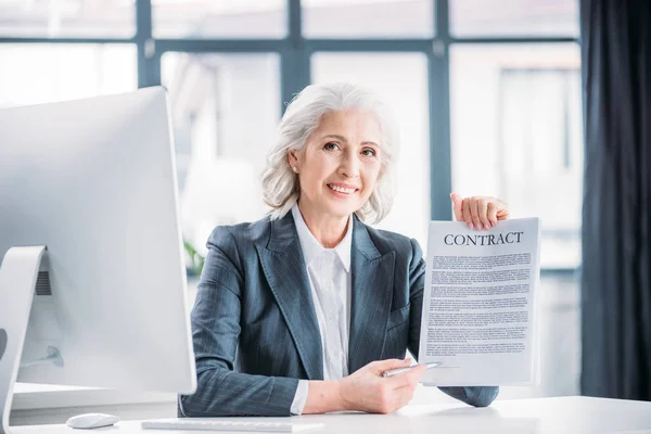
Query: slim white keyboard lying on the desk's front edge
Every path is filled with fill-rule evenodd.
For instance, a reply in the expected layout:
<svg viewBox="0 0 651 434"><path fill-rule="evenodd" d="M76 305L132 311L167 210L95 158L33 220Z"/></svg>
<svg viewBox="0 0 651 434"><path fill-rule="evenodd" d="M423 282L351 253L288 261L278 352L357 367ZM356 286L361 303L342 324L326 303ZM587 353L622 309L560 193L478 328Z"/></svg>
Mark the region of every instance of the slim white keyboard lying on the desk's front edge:
<svg viewBox="0 0 651 434"><path fill-rule="evenodd" d="M239 431L248 433L297 433L322 426L322 423L225 421L204 418L158 419L142 422L142 427L145 430Z"/></svg>

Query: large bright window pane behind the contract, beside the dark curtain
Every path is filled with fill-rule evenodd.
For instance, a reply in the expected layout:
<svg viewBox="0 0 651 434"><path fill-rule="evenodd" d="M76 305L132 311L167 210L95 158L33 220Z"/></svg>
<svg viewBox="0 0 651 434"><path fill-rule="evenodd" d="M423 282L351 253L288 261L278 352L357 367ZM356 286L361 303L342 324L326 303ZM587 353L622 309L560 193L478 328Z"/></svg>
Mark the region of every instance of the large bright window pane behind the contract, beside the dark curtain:
<svg viewBox="0 0 651 434"><path fill-rule="evenodd" d="M540 217L548 268L580 264L579 62L573 43L450 51L454 189Z"/></svg>

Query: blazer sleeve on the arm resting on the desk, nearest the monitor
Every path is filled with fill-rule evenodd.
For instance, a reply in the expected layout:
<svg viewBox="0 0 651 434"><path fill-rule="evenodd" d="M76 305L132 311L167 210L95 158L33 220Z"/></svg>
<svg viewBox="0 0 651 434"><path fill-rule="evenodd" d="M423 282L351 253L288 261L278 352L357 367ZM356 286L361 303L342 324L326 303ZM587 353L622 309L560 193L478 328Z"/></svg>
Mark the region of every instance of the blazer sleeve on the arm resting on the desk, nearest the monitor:
<svg viewBox="0 0 651 434"><path fill-rule="evenodd" d="M216 228L192 309L197 387L178 399L179 417L291 416L297 379L235 372L244 288L229 228Z"/></svg>

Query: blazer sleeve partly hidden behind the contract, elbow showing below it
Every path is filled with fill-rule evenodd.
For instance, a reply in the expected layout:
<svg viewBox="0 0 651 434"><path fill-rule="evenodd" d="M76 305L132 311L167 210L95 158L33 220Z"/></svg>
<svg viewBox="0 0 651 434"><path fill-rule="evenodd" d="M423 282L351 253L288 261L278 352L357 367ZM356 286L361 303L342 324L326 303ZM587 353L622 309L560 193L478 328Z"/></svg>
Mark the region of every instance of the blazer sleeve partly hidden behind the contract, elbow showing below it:
<svg viewBox="0 0 651 434"><path fill-rule="evenodd" d="M411 263L409 264L409 353L419 358L423 289L425 286L425 261L418 241L411 240ZM498 386L438 387L445 394L474 407L487 407L499 393Z"/></svg>

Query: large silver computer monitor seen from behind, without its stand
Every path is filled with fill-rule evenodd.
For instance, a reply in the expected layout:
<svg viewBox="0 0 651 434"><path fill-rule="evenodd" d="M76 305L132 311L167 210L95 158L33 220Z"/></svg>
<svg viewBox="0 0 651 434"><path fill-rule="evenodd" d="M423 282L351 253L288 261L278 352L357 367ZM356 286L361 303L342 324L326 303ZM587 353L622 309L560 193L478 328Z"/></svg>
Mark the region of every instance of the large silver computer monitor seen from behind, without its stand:
<svg viewBox="0 0 651 434"><path fill-rule="evenodd" d="M0 110L0 257L47 246L17 381L195 390L169 119L161 87Z"/></svg>

